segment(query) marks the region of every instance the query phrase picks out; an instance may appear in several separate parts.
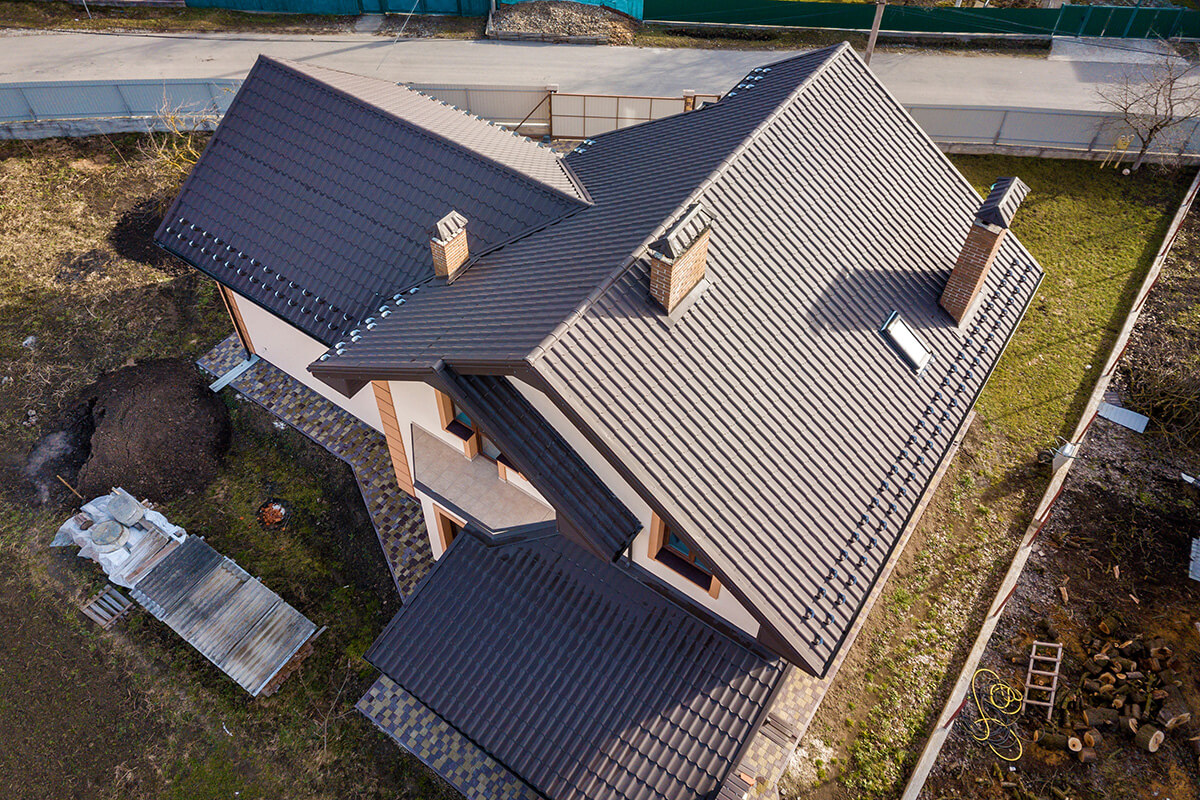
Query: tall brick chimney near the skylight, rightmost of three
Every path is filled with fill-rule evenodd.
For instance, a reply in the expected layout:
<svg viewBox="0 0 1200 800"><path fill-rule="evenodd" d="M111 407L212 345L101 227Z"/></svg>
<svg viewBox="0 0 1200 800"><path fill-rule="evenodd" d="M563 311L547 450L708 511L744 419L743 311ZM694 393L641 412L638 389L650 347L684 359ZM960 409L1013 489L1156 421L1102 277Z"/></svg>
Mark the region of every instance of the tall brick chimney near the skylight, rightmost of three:
<svg viewBox="0 0 1200 800"><path fill-rule="evenodd" d="M991 263L996 260L996 253L1008 235L1008 225L1028 192L1030 187L1019 178L997 179L976 212L941 299L942 308L960 326L971 314L976 297L988 279Z"/></svg>

